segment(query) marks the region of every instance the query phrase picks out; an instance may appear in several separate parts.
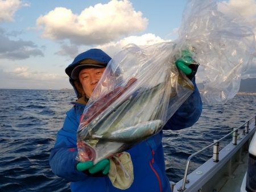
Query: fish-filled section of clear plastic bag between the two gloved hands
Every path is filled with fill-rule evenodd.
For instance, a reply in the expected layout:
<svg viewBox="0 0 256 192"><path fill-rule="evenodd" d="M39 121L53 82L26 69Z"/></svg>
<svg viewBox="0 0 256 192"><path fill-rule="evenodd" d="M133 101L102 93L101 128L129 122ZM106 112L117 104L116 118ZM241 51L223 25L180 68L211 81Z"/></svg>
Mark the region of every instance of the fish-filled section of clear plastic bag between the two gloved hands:
<svg viewBox="0 0 256 192"><path fill-rule="evenodd" d="M193 84L179 74L172 49L130 44L109 62L77 131L79 161L96 163L158 133L189 97Z"/></svg>

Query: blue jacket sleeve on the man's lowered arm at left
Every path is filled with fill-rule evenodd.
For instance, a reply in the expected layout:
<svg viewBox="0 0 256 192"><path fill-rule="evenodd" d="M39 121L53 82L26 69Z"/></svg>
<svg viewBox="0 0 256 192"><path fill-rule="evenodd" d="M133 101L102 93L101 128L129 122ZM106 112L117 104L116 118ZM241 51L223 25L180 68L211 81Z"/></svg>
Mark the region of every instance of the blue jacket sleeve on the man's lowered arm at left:
<svg viewBox="0 0 256 192"><path fill-rule="evenodd" d="M67 112L63 128L57 133L55 146L51 150L49 164L52 172L68 181L84 180L86 174L76 170L76 131L79 127L76 108Z"/></svg>

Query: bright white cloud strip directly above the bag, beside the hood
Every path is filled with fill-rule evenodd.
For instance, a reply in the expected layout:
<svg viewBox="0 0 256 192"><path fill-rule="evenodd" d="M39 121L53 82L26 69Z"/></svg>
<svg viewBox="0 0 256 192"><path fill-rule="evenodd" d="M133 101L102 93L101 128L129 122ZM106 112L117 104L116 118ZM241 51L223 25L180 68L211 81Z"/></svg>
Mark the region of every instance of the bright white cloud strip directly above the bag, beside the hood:
<svg viewBox="0 0 256 192"><path fill-rule="evenodd" d="M99 45L97 48L102 49L106 51L110 56L113 56L115 53L120 51L122 47L124 47L127 44L134 43L138 46L142 45L152 45L155 43L160 43L164 41L170 41L170 40L164 40L159 36L155 36L154 34L144 34L142 36L129 36L125 37L122 40L119 40L117 42L110 42L104 45Z"/></svg>

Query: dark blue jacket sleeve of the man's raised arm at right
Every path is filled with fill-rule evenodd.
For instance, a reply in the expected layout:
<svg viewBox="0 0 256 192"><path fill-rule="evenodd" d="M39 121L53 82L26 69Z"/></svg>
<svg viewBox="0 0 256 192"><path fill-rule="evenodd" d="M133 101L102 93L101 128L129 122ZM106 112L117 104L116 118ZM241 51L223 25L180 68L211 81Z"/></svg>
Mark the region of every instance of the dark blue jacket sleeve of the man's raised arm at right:
<svg viewBox="0 0 256 192"><path fill-rule="evenodd" d="M164 130L181 130L191 127L197 122L202 112L202 101L199 90L197 89L195 77L192 79L195 87L193 93L178 108L171 119L164 126Z"/></svg>

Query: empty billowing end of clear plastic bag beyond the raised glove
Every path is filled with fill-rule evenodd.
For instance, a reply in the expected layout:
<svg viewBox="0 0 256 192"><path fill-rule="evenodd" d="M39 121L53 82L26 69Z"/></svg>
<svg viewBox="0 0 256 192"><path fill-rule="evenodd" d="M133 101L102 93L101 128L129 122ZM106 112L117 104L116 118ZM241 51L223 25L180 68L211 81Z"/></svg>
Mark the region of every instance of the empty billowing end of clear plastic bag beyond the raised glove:
<svg viewBox="0 0 256 192"><path fill-rule="evenodd" d="M220 104L237 94L241 75L255 65L253 27L219 1L188 1L177 49L193 47L200 66L197 86L205 103Z"/></svg>

